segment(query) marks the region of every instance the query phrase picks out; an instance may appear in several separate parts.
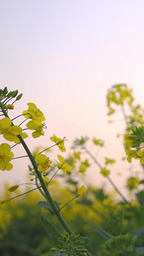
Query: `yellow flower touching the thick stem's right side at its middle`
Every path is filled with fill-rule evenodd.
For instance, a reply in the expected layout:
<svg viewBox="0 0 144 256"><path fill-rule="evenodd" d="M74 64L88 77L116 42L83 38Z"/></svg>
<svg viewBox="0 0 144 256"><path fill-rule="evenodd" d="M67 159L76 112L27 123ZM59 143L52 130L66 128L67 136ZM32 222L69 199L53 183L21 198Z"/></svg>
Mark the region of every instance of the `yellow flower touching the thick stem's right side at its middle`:
<svg viewBox="0 0 144 256"><path fill-rule="evenodd" d="M49 169L49 167L51 167L51 161L49 160L49 157L47 157L45 154L37 154L35 159L39 163L37 171L45 172Z"/></svg>

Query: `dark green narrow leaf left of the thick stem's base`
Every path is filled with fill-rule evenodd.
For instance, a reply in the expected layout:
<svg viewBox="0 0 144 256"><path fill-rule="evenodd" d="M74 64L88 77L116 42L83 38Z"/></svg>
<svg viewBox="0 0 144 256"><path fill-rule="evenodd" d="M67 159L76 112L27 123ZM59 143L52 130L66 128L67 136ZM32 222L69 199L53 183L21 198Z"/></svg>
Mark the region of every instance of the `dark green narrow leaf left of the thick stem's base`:
<svg viewBox="0 0 144 256"><path fill-rule="evenodd" d="M53 224L50 224L47 218L42 217L42 224L44 230L46 230L47 234L55 241L58 239L63 239L63 236L61 236L60 232L56 230L55 226Z"/></svg>

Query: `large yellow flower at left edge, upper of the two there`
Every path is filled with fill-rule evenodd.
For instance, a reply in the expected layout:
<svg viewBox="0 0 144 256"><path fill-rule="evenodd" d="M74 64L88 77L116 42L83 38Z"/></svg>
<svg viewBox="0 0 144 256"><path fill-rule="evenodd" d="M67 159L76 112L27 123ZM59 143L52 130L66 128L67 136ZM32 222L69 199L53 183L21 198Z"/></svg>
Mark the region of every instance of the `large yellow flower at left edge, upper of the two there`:
<svg viewBox="0 0 144 256"><path fill-rule="evenodd" d="M20 126L11 125L11 123L12 121L8 117L0 120L0 134L3 134L3 137L9 142L13 142L22 131Z"/></svg>

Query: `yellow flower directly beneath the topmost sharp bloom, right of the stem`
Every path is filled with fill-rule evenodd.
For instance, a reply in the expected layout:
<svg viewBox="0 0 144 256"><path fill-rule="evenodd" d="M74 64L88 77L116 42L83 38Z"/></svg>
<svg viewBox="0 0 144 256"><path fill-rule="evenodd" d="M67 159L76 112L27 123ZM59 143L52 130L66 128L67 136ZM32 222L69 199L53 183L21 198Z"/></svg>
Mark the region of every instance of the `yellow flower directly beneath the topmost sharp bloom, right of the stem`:
<svg viewBox="0 0 144 256"><path fill-rule="evenodd" d="M44 127L44 124L42 124L42 122L32 120L32 121L29 121L26 126L29 130L35 130L32 132L32 137L35 138L35 137L40 137L41 135L44 135L43 128L45 127Z"/></svg>

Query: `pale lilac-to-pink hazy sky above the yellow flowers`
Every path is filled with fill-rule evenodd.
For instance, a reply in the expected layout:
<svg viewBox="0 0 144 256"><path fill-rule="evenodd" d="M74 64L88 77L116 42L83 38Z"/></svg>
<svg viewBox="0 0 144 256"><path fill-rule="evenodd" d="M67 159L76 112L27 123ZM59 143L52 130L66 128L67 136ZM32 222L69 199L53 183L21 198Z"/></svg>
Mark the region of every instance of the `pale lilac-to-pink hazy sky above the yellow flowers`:
<svg viewBox="0 0 144 256"><path fill-rule="evenodd" d="M143 102L143 10L143 0L1 0L0 83L24 94L17 113L35 102L48 137L103 137L112 157L120 126L107 125L107 90L128 84Z"/></svg>

